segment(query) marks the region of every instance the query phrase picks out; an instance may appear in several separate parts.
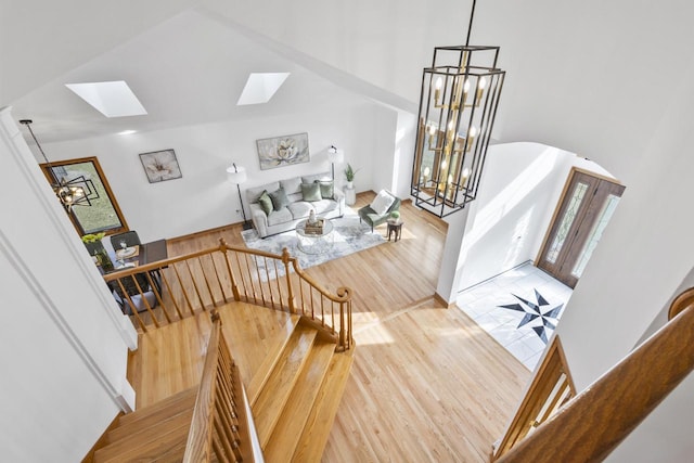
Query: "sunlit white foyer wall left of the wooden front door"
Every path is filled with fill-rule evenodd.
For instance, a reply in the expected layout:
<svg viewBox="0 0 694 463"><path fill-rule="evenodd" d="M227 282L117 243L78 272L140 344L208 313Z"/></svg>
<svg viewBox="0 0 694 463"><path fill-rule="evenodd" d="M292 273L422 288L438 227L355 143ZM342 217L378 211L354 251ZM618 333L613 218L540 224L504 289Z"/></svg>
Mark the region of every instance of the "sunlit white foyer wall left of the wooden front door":
<svg viewBox="0 0 694 463"><path fill-rule="evenodd" d="M573 167L608 175L595 163L541 143L489 146L463 237L459 291L537 258Z"/></svg>

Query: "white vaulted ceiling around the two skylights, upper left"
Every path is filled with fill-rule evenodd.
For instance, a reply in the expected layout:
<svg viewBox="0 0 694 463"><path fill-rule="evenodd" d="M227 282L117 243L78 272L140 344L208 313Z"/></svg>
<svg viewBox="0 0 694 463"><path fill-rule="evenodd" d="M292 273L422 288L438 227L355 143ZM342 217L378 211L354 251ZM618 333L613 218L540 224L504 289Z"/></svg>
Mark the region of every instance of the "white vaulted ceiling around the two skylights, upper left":
<svg viewBox="0 0 694 463"><path fill-rule="evenodd" d="M40 142L292 114L327 97L415 111L432 51L416 41L429 28L415 2L330 3L2 0L0 106L34 119ZM262 72L291 76L270 103L236 106ZM111 80L126 80L147 114L106 118L65 87Z"/></svg>

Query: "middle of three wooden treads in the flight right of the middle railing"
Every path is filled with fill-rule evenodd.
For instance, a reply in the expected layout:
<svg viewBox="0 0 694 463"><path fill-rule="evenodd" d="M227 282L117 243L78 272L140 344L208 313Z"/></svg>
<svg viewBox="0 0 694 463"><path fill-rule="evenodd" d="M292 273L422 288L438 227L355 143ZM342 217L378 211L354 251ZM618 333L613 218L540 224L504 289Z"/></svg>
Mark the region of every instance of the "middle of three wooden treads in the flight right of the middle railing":
<svg viewBox="0 0 694 463"><path fill-rule="evenodd" d="M335 344L333 343L317 342L313 345L284 411L274 426L272 437L262 449L267 461L281 461L283 456L294 453L300 437L297 429L303 429L308 420L334 353Z"/></svg>

